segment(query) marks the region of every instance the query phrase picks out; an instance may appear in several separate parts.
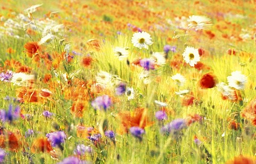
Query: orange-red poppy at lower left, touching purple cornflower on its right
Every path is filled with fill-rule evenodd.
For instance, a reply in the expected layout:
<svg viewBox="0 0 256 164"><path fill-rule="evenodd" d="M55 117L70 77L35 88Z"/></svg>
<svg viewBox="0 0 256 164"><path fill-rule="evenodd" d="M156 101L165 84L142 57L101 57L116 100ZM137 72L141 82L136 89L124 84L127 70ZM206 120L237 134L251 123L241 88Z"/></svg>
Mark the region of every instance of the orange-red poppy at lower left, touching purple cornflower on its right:
<svg viewBox="0 0 256 164"><path fill-rule="evenodd" d="M47 140L46 137L37 138L31 146L32 153L39 153L39 152L50 153L52 150L53 149L52 149L51 143Z"/></svg>

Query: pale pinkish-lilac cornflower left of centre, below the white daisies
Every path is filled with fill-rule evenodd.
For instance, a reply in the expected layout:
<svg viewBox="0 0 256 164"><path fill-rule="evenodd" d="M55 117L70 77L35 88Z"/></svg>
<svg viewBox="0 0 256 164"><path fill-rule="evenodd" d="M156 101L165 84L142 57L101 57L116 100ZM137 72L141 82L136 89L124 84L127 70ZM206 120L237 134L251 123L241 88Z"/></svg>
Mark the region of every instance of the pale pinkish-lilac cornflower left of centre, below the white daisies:
<svg viewBox="0 0 256 164"><path fill-rule="evenodd" d="M104 109L106 111L110 105L111 105L111 99L108 95L96 97L96 99L92 101L92 107L95 110Z"/></svg>

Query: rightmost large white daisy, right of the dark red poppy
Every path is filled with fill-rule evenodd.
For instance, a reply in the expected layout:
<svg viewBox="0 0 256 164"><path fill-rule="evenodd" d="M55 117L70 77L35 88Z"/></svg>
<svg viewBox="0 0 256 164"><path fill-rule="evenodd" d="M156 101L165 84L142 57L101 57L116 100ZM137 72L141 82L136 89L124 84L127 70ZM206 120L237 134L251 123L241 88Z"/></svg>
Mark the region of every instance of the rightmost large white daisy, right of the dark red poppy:
<svg viewBox="0 0 256 164"><path fill-rule="evenodd" d="M241 71L234 71L231 73L231 76L227 77L227 80L230 87L242 90L247 82L247 77Z"/></svg>

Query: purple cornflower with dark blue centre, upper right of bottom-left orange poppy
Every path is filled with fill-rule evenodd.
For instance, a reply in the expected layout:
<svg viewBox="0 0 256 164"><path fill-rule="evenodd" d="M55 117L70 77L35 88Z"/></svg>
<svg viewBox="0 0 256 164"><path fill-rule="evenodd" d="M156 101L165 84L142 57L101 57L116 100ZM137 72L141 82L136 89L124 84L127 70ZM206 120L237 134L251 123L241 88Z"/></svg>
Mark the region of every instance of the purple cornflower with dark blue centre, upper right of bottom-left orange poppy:
<svg viewBox="0 0 256 164"><path fill-rule="evenodd" d="M48 133L46 137L53 147L60 146L60 144L64 143L66 140L66 134L63 131Z"/></svg>

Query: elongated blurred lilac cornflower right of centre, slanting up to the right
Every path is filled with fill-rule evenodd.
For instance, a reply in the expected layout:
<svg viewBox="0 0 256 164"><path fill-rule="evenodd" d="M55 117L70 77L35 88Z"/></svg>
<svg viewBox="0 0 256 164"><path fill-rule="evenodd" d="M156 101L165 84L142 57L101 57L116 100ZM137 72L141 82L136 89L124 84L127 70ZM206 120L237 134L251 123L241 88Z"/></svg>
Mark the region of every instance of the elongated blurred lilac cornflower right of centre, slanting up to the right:
<svg viewBox="0 0 256 164"><path fill-rule="evenodd" d="M169 134L186 127L187 127L187 124L185 119L175 119L169 124L163 126L161 130L162 130L162 133Z"/></svg>

